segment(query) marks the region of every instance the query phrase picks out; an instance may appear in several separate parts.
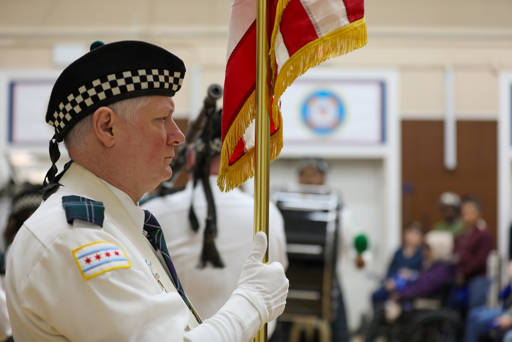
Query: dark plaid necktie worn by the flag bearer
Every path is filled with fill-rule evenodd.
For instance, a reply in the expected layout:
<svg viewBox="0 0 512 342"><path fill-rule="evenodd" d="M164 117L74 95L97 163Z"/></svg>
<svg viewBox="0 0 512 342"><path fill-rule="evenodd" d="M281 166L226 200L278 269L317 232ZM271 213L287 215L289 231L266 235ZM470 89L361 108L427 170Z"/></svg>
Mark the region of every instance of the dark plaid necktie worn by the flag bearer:
<svg viewBox="0 0 512 342"><path fill-rule="evenodd" d="M170 279L174 283L174 287L178 290L181 298L185 301L185 304L190 309L190 301L188 300L185 291L183 290L183 286L181 286L180 279L178 278L178 273L176 273L176 269L174 268L173 261L170 259L169 251L167 250L167 245L165 244L165 239L163 237L162 227L158 223L157 219L153 214L144 209L144 231L146 232L146 238L151 243L151 246L156 251L160 251L162 257L165 261L165 265L169 269ZM195 310L191 310L196 316L196 319L199 323L201 323L199 317L197 316Z"/></svg>

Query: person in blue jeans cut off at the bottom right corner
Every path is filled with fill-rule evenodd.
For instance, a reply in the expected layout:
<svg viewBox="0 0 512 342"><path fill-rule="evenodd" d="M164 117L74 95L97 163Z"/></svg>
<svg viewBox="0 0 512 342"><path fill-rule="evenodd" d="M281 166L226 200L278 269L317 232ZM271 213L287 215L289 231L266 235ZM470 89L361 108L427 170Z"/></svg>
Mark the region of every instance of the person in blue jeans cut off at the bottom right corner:
<svg viewBox="0 0 512 342"><path fill-rule="evenodd" d="M512 280L512 261L508 262L508 276ZM510 283L500 293L501 308L480 306L471 309L466 317L464 342L501 341L506 330L512 328L512 295Z"/></svg>

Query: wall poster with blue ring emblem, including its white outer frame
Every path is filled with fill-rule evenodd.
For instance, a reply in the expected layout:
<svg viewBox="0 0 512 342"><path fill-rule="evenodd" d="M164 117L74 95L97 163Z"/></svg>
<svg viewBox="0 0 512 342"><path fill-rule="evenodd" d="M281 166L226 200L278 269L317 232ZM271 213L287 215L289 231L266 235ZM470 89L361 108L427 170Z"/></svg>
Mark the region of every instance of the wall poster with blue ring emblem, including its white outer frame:
<svg viewBox="0 0 512 342"><path fill-rule="evenodd" d="M281 96L281 155L382 157L398 133L394 70L313 68Z"/></svg>

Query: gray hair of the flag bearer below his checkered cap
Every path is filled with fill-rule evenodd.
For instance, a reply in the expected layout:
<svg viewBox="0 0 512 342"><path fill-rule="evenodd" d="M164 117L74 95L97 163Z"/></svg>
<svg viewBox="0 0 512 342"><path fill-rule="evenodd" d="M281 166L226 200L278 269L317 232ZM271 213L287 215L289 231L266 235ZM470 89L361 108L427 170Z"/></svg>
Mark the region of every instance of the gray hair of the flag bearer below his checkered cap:
<svg viewBox="0 0 512 342"><path fill-rule="evenodd" d="M147 105L151 100L150 96L139 96L127 98L114 102L113 104L106 106L122 117L129 125L135 123L135 113ZM93 122L93 115L87 115L81 119L64 137L64 145L69 151L69 147L73 146L79 151L85 151L88 145L87 136L91 129Z"/></svg>

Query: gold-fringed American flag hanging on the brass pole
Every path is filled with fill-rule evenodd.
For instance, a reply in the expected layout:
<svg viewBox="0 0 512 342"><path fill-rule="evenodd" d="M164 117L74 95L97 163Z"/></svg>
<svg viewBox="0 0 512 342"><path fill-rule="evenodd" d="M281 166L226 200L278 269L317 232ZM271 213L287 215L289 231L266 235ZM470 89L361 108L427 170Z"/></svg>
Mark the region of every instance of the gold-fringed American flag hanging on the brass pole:
<svg viewBox="0 0 512 342"><path fill-rule="evenodd" d="M283 147L280 97L295 78L368 42L363 0L268 0L273 95L270 159ZM256 0L233 0L228 32L218 185L231 190L254 175Z"/></svg>

